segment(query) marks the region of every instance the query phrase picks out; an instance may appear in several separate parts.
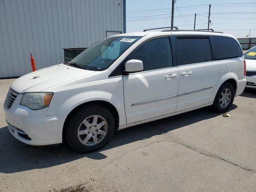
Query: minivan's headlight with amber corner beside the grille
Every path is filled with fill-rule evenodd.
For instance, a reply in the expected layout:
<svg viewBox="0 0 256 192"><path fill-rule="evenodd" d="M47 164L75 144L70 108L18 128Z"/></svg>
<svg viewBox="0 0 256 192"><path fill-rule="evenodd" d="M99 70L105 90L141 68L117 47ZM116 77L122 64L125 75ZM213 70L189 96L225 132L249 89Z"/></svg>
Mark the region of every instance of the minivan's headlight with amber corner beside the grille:
<svg viewBox="0 0 256 192"><path fill-rule="evenodd" d="M50 105L53 93L38 92L38 93L25 93L22 96L21 105L27 106L30 109L42 109Z"/></svg>

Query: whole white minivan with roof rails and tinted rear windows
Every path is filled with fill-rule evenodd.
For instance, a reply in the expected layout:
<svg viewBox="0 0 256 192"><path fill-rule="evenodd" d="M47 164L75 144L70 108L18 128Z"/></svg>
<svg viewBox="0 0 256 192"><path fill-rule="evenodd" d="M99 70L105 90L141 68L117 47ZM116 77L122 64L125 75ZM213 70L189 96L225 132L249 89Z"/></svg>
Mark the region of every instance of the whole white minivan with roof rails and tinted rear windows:
<svg viewBox="0 0 256 192"><path fill-rule="evenodd" d="M18 78L4 111L11 134L26 144L66 140L78 152L91 152L115 129L210 105L226 112L245 84L244 54L232 35L127 33Z"/></svg>

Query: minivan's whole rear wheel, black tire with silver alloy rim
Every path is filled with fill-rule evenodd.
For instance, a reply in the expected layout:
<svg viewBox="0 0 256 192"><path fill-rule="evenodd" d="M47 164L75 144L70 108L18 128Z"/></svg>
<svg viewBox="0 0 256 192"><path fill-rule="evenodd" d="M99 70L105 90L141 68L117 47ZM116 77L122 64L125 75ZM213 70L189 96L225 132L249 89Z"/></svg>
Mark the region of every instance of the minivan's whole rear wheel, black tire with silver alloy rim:
<svg viewBox="0 0 256 192"><path fill-rule="evenodd" d="M213 102L213 109L218 113L227 112L233 104L235 98L235 89L234 86L229 83L225 82L220 86L214 102Z"/></svg>

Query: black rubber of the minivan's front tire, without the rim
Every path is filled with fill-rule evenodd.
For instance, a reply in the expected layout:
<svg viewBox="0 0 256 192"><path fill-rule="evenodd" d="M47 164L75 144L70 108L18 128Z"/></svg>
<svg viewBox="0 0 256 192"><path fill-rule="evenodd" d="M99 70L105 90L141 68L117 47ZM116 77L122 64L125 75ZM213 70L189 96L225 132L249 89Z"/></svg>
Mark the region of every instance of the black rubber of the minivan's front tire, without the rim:
<svg viewBox="0 0 256 192"><path fill-rule="evenodd" d="M104 119L106 119L108 124L108 131L104 139L96 144L95 146L86 146L80 142L77 136L78 128L81 124L81 122L92 115L100 115ZM114 117L111 114L111 112L102 107L102 106L88 106L81 108L79 110L76 110L74 113L72 113L72 117L68 120L67 126L66 126L66 141L70 145L72 149L74 149L76 152L92 152L95 150L98 150L102 148L112 137L115 130L115 123L114 123Z"/></svg>

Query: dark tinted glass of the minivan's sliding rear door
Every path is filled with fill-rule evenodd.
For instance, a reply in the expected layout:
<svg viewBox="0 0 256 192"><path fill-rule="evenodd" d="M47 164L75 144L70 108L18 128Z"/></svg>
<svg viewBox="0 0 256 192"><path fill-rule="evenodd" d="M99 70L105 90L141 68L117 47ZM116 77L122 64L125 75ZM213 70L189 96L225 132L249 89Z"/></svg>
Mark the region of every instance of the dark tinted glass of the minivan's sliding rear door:
<svg viewBox="0 0 256 192"><path fill-rule="evenodd" d="M208 38L177 38L178 65L212 61Z"/></svg>

